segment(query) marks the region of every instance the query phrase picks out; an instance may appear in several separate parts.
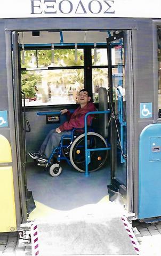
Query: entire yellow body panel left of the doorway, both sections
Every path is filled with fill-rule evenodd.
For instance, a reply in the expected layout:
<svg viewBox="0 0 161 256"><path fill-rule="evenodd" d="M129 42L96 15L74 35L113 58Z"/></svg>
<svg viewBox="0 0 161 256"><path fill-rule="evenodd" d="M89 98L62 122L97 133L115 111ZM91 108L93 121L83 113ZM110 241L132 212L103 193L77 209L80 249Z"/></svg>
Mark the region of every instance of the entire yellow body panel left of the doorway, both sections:
<svg viewBox="0 0 161 256"><path fill-rule="evenodd" d="M9 141L0 135L0 232L17 230L13 168L5 165L12 165L11 146Z"/></svg>

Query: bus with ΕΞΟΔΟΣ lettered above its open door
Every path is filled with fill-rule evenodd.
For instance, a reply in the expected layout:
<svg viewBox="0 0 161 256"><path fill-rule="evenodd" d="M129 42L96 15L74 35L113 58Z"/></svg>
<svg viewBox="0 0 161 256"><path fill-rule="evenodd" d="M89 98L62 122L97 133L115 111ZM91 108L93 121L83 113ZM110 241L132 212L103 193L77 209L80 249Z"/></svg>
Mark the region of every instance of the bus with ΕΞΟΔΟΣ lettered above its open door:
<svg viewBox="0 0 161 256"><path fill-rule="evenodd" d="M159 1L153 11L146 1L23 2L0 11L1 232L102 201L121 202L131 220L159 221ZM28 152L65 122L61 109L78 107L81 89L99 109L100 88L109 112L95 122L99 134L108 130L106 161L86 177L62 159L51 177Z"/></svg>

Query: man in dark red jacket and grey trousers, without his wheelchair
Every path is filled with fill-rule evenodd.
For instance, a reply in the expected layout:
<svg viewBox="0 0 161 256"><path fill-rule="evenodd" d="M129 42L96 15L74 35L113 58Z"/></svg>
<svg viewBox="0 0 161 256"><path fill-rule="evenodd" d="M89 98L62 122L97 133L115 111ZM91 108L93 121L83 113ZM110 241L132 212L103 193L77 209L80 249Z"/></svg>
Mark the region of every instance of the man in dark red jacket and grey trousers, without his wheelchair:
<svg viewBox="0 0 161 256"><path fill-rule="evenodd" d="M29 156L33 159L39 159L45 161L48 159L52 153L53 148L59 147L61 138L64 135L70 135L71 130L74 128L84 128L84 117L86 113L90 111L96 111L95 106L90 102L91 97L88 92L83 89L78 94L78 103L80 106L74 111L73 114L69 110L61 110L61 114L66 114L69 121L60 125L57 129L53 129L47 134L45 140L43 141L41 148L37 153L29 152ZM90 125L93 116L88 116L87 124Z"/></svg>

